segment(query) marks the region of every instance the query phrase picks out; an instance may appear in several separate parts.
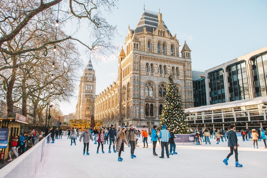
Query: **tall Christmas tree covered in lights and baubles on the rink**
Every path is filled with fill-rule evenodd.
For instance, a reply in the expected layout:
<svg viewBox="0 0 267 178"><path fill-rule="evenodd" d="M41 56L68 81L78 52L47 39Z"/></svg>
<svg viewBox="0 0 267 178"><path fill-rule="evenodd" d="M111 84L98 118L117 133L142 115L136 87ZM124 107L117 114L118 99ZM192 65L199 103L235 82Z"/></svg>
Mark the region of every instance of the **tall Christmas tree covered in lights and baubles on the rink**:
<svg viewBox="0 0 267 178"><path fill-rule="evenodd" d="M175 134L188 134L188 122L172 76L169 77L159 127L162 128L163 125L166 126L167 130L175 128Z"/></svg>

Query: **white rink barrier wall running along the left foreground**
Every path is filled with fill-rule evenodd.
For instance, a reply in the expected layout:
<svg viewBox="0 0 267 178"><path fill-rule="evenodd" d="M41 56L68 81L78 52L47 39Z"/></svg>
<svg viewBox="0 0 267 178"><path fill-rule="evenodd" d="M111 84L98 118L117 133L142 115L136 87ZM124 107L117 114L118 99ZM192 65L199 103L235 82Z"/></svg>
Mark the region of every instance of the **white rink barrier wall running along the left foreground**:
<svg viewBox="0 0 267 178"><path fill-rule="evenodd" d="M50 134L0 169L0 178L37 177L50 144Z"/></svg>

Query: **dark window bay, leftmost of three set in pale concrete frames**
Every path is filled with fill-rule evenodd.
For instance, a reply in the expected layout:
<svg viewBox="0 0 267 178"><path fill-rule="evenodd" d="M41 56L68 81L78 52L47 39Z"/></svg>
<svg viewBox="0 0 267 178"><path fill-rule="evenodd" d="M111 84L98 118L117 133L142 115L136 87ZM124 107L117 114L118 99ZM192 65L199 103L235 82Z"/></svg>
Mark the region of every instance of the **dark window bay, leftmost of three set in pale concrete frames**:
<svg viewBox="0 0 267 178"><path fill-rule="evenodd" d="M217 69L208 73L210 88L210 104L226 102L223 69Z"/></svg>

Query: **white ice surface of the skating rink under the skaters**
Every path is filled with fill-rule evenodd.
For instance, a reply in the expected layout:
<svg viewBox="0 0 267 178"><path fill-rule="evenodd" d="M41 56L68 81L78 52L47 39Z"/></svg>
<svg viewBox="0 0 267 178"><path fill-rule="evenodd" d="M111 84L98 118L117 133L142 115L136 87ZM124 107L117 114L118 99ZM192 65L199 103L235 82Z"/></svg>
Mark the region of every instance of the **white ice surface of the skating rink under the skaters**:
<svg viewBox="0 0 267 178"><path fill-rule="evenodd" d="M242 137L238 137L242 139ZM211 145L176 145L178 155L170 155L167 158L159 158L160 145L157 144L156 152L159 156L152 155L152 144L148 137L149 148L142 148L142 137L139 138L139 146L135 148L136 158L130 158L130 147L124 146L121 153L122 162L117 161L118 153L108 153L108 145L104 145L103 154L101 145L99 154L96 154L97 144L90 141L90 155L83 155L83 142L76 140L76 146L70 146L70 139L62 137L55 140L45 153L41 170L37 177L266 177L267 149L264 149L263 141L258 141L259 149L253 149L252 141L239 141L239 163L243 167L235 167L235 155L233 154L226 166L222 160L228 155L227 142L216 144L211 139ZM112 147L111 147L112 149Z"/></svg>

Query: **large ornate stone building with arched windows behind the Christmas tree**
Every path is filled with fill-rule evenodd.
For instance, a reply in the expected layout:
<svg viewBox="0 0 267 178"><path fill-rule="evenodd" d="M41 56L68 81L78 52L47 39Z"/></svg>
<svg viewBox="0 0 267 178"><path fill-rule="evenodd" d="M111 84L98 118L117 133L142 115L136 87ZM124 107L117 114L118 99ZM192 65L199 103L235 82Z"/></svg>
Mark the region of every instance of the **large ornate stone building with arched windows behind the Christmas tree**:
<svg viewBox="0 0 267 178"><path fill-rule="evenodd" d="M118 56L116 82L95 98L95 118L103 126L158 125L168 76L172 75L184 108L193 107L191 50L162 20L162 14L144 11L135 30L128 27L126 54Z"/></svg>

